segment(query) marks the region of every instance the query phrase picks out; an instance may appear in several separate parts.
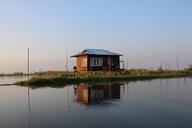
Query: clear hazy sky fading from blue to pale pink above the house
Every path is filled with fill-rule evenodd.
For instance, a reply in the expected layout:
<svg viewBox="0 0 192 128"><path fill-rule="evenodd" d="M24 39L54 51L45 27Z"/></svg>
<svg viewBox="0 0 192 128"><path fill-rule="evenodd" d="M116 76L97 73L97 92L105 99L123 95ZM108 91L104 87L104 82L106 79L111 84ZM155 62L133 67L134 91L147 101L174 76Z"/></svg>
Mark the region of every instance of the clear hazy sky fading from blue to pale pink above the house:
<svg viewBox="0 0 192 128"><path fill-rule="evenodd" d="M0 72L65 70L85 48L124 54L129 68L192 63L191 0L1 0ZM73 67L75 59L70 59Z"/></svg>

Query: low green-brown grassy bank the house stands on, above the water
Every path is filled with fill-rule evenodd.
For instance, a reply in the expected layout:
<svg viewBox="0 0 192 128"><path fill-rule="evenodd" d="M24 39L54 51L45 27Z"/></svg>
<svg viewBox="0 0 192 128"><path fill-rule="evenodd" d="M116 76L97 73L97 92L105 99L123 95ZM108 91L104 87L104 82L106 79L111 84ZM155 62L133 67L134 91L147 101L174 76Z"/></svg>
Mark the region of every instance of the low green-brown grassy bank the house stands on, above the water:
<svg viewBox="0 0 192 128"><path fill-rule="evenodd" d="M112 82L112 81L136 81L157 78L190 77L192 70L180 71L153 71L153 70L129 70L121 72L43 72L36 73L28 81L17 82L20 86L59 86L64 84L78 84L83 82Z"/></svg>

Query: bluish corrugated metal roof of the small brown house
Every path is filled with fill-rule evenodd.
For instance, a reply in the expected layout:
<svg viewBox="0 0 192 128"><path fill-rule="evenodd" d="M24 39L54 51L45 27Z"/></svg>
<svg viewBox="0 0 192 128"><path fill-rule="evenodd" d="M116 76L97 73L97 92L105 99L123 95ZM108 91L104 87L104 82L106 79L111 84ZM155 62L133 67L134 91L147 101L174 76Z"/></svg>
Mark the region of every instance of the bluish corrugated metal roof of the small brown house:
<svg viewBox="0 0 192 128"><path fill-rule="evenodd" d="M122 56L121 54L114 53L105 49L85 49L81 53L73 55L72 57L78 57L82 55Z"/></svg>

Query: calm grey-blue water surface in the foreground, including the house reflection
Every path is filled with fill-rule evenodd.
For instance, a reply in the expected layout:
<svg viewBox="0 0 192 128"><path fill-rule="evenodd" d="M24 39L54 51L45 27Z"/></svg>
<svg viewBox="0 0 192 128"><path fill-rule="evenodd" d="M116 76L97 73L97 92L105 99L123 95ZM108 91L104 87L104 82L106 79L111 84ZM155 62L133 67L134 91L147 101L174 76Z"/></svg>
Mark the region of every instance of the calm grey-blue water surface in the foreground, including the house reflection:
<svg viewBox="0 0 192 128"><path fill-rule="evenodd" d="M192 79L0 87L0 128L64 127L192 128Z"/></svg>

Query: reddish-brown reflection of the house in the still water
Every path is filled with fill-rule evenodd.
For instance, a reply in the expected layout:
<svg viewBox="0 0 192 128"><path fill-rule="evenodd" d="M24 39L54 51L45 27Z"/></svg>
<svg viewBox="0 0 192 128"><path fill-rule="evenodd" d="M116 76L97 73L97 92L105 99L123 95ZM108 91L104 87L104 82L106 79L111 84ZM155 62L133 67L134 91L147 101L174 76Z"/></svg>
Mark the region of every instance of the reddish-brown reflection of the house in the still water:
<svg viewBox="0 0 192 128"><path fill-rule="evenodd" d="M99 103L107 99L120 99L122 83L80 84L75 87L76 100L84 104Z"/></svg>

